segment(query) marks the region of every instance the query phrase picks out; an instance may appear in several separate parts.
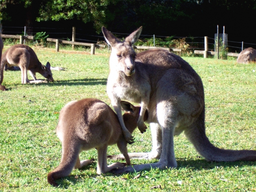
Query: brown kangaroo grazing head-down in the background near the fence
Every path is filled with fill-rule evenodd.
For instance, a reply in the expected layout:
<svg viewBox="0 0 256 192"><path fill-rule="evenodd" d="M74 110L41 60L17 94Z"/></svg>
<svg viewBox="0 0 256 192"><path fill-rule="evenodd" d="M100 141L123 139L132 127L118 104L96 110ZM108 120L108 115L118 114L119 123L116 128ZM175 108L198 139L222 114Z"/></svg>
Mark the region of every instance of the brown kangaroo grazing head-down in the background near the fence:
<svg viewBox="0 0 256 192"><path fill-rule="evenodd" d="M40 73L49 81L53 81L53 74L50 70L50 63L47 62L46 66L41 64L33 49L26 45L13 45L3 53L0 64L0 84L3 82L3 69L6 64L10 66L19 66L21 68L22 84L44 82L42 80L37 80L35 73ZM27 70L29 70L29 74L32 76L34 81L29 81L27 78Z"/></svg>

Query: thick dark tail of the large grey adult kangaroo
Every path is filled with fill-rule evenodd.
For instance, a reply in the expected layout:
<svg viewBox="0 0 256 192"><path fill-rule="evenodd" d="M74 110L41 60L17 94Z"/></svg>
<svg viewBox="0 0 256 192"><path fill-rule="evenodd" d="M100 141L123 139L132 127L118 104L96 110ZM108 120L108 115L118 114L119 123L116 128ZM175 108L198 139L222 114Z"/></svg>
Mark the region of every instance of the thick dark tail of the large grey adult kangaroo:
<svg viewBox="0 0 256 192"><path fill-rule="evenodd" d="M186 137L200 155L209 161L256 161L254 150L227 150L212 145L206 137L204 115L203 111L197 121L185 131Z"/></svg>

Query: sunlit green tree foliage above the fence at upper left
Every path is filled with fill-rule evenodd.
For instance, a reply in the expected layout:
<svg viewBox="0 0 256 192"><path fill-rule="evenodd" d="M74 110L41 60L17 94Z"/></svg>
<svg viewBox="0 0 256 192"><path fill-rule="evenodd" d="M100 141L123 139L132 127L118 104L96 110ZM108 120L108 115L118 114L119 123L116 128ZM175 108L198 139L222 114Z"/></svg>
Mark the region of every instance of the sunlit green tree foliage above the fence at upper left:
<svg viewBox="0 0 256 192"><path fill-rule="evenodd" d="M58 21L77 18L84 23L94 22L97 32L105 25L106 9L118 0L0 0L0 20L10 19L6 8L11 4L24 6L27 18L26 26L33 21ZM39 10L39 11L38 11Z"/></svg>

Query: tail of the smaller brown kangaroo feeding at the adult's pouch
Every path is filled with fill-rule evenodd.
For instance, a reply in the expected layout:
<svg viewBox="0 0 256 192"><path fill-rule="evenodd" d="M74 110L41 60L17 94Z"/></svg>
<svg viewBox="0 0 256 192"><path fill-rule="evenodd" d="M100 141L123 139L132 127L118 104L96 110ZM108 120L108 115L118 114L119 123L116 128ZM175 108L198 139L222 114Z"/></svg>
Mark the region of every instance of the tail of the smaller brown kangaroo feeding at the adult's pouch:
<svg viewBox="0 0 256 192"><path fill-rule="evenodd" d="M65 148L67 147L67 148ZM59 179L61 177L68 176L71 172L74 166L76 165L77 160L79 156L79 147L78 146L63 146L62 143L62 160L56 169L54 169L52 172L48 173L47 175L47 181L52 186L58 186L56 183L56 179Z"/></svg>

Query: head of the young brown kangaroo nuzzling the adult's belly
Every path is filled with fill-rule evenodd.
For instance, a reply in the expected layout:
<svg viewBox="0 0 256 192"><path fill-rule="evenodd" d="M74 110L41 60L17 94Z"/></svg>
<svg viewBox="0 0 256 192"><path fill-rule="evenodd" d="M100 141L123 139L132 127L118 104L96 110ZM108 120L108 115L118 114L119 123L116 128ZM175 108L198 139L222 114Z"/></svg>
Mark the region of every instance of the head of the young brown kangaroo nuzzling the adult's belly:
<svg viewBox="0 0 256 192"><path fill-rule="evenodd" d="M141 107L133 106L129 102L121 101L121 106L124 109L125 113L123 115L124 124L127 127L128 131L132 133L137 127L138 117L140 115ZM148 118L148 111L146 110L144 114L144 121Z"/></svg>

